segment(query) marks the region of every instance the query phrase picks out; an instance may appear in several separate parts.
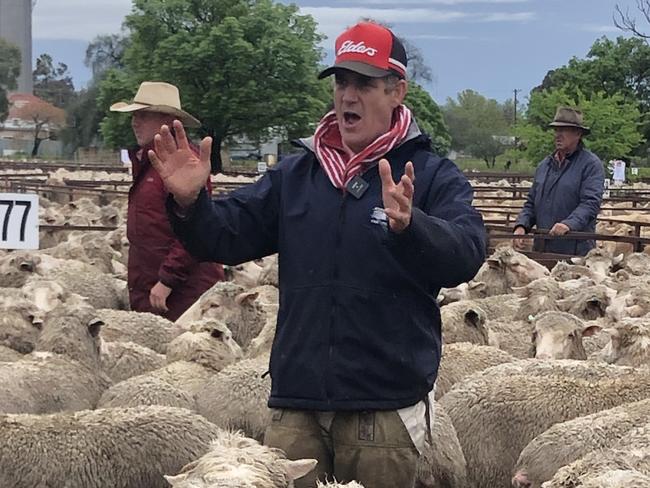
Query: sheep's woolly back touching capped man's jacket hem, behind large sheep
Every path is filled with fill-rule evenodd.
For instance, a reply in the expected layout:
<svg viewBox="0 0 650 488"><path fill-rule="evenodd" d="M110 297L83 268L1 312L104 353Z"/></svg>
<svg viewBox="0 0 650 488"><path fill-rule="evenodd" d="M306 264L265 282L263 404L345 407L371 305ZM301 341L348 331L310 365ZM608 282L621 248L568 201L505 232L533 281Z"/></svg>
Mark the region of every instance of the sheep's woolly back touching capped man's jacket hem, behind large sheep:
<svg viewBox="0 0 650 488"><path fill-rule="evenodd" d="M436 400L471 374L515 360L515 357L496 347L468 342L444 344L436 379Z"/></svg>

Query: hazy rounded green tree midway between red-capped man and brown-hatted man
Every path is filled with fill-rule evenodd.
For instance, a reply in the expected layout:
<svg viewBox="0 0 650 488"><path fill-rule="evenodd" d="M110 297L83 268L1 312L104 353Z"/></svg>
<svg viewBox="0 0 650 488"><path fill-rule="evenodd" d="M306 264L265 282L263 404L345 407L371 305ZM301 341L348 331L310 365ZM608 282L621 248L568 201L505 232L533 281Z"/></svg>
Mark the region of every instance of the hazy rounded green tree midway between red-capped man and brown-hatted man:
<svg viewBox="0 0 650 488"><path fill-rule="evenodd" d="M458 94L457 100L447 99L443 108L445 122L451 134L451 146L467 151L493 168L496 158L507 148L510 121L507 105L485 98L473 90Z"/></svg>

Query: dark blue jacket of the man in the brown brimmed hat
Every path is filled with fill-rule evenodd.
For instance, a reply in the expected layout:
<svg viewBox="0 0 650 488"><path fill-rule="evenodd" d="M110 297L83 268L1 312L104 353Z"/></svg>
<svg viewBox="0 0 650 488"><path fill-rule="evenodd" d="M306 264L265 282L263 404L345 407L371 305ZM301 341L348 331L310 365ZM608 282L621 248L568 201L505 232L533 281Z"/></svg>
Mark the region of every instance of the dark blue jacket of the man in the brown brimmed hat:
<svg viewBox="0 0 650 488"><path fill-rule="evenodd" d="M515 226L526 231L537 226L550 230L561 222L575 232L595 232L600 212L605 173L603 164L594 153L581 148L561 167L553 156L544 159L535 172L528 199ZM558 254L584 256L594 248L594 241L553 240L535 241L535 250Z"/></svg>

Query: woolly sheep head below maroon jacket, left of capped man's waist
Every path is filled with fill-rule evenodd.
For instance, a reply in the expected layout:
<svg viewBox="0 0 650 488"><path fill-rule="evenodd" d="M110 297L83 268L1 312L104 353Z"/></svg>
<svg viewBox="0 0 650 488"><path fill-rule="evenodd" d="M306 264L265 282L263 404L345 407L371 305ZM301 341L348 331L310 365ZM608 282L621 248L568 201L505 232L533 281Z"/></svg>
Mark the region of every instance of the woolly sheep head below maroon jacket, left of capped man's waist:
<svg viewBox="0 0 650 488"><path fill-rule="evenodd" d="M189 331L167 346L168 363L194 361L215 371L221 371L242 357L241 347L232 338L228 327L214 319L194 322Z"/></svg>

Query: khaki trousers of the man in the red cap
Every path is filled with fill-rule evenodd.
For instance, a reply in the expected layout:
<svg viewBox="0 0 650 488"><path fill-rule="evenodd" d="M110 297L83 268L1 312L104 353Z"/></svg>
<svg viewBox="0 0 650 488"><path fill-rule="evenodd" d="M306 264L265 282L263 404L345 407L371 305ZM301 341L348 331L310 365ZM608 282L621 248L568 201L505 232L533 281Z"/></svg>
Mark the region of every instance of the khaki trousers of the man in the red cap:
<svg viewBox="0 0 650 488"><path fill-rule="evenodd" d="M264 444L282 449L289 459L311 458L315 470L295 481L314 488L316 480L356 480L365 488L412 488L418 451L396 411L273 411ZM329 425L324 425L329 424Z"/></svg>

